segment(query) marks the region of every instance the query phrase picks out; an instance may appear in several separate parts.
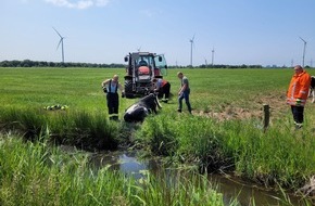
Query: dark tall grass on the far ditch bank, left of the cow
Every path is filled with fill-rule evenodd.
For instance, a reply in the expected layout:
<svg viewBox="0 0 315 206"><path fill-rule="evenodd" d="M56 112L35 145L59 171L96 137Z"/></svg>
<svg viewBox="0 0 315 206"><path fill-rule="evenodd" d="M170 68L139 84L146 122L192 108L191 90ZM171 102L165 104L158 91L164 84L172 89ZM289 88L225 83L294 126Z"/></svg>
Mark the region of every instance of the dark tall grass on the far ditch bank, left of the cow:
<svg viewBox="0 0 315 206"><path fill-rule="evenodd" d="M124 140L119 136L123 126L109 121L104 113L7 108L0 114L0 123L3 123L2 129L17 131L30 140L48 128L50 141L89 151L115 150Z"/></svg>

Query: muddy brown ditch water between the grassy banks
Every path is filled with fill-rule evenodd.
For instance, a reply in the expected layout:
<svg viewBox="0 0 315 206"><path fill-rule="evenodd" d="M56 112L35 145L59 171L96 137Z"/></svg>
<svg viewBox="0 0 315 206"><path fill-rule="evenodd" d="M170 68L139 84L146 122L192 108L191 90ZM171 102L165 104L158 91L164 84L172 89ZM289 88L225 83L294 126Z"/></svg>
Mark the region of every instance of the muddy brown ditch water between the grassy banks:
<svg viewBox="0 0 315 206"><path fill-rule="evenodd" d="M156 159L140 160L135 152L96 154L91 162L97 167L110 167L136 179L144 178L143 171L147 170L151 173L163 172L163 168ZM217 191L223 193L226 205L229 205L230 201L235 198L241 205L251 205L252 199L255 205L282 205L278 201L284 198L280 193L267 191L253 183L222 175L209 175L209 180L218 186ZM292 205L302 205L297 197L290 196L290 201Z"/></svg>

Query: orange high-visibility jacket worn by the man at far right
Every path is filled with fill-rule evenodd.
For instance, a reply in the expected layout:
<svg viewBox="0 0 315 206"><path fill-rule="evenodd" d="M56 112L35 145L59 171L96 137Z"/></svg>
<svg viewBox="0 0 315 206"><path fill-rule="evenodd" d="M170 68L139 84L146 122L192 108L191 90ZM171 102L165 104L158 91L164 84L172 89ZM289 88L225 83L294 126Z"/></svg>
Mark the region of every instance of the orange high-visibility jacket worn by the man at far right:
<svg viewBox="0 0 315 206"><path fill-rule="evenodd" d="M305 70L299 75L294 74L289 85L287 104L297 105L297 99L300 99L300 105L304 106L308 96L310 85L311 76Z"/></svg>

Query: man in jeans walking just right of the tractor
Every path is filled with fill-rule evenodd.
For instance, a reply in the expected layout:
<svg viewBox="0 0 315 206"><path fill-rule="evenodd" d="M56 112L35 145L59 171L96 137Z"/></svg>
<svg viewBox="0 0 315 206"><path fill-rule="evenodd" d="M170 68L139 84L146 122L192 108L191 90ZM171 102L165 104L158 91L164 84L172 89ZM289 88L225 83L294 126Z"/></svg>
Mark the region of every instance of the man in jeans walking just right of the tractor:
<svg viewBox="0 0 315 206"><path fill-rule="evenodd" d="M177 73L177 77L180 79L180 88L178 91L178 110L177 112L181 113L182 110L182 99L185 99L188 112L191 114L191 105L189 102L190 87L189 81L186 76L181 72Z"/></svg>

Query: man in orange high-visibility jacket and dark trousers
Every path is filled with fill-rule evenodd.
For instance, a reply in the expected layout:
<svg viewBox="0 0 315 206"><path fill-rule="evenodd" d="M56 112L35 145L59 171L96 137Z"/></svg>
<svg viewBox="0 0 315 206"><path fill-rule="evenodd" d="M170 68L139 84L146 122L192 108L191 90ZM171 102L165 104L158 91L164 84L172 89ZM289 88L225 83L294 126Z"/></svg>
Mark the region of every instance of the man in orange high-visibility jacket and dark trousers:
<svg viewBox="0 0 315 206"><path fill-rule="evenodd" d="M291 112L295 128L302 128L304 120L304 106L308 96L311 76L301 65L294 66L294 75L291 78L287 92L287 104L291 105Z"/></svg>

